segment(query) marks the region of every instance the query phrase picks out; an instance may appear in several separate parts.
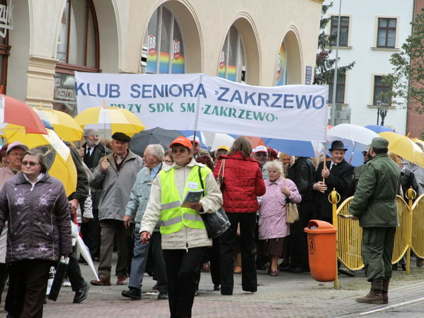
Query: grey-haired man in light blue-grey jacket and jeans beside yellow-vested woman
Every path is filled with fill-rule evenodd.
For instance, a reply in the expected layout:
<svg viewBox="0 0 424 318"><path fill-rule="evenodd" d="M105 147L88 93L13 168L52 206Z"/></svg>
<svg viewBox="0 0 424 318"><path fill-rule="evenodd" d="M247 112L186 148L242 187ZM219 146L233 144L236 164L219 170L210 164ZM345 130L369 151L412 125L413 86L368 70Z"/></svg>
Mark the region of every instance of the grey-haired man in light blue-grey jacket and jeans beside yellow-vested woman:
<svg viewBox="0 0 424 318"><path fill-rule="evenodd" d="M130 227L130 222L134 218L134 256L131 262L130 283L128 283L128 290L122 291L122 296L132 298L135 300L142 299L142 282L144 269L146 268L147 256L149 254L149 242L142 242L140 239L140 225L144 211L146 211L147 201L150 197L150 189L153 180L159 175L162 168L162 159L164 158L164 148L159 145L147 146L144 151L144 168L137 174L134 187L132 187L130 201L128 201L127 208L125 208L125 216L122 218L125 228ZM154 232L154 235L161 235L160 232ZM152 237L154 237L154 235ZM168 284L166 283L166 271L164 254L162 253L161 245L154 244L154 255L156 264L158 265L158 299L168 299ZM161 265L161 266L160 266Z"/></svg>

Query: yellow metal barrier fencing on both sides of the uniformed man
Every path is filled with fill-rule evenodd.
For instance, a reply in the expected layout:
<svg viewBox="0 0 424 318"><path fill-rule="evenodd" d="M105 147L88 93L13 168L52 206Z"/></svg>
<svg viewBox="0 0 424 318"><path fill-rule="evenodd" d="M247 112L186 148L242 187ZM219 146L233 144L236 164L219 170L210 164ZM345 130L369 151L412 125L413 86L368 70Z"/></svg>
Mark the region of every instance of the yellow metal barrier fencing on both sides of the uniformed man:
<svg viewBox="0 0 424 318"><path fill-rule="evenodd" d="M412 194L408 196L410 204L396 197L396 206L398 208L399 227L396 229L394 239L394 249L392 254L392 264L396 264L403 255L407 255L406 273L409 273L410 259L409 252L411 247L413 252L419 257L424 257L424 194L420 196L412 206ZM340 218L338 215L349 215L348 209L353 196L345 199L338 208L333 201L333 225L338 232L338 260L346 268L357 271L364 267L361 256L362 228L357 220L350 218ZM335 212L334 212L335 211ZM411 213L413 211L413 213Z"/></svg>

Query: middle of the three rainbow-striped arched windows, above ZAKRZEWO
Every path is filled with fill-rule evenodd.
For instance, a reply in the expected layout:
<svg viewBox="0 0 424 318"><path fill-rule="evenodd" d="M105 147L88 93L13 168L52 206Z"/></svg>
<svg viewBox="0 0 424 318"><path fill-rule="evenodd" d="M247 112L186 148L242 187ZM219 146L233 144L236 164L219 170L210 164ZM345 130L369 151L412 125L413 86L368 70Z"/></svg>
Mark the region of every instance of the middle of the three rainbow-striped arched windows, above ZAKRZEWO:
<svg viewBox="0 0 424 318"><path fill-rule="evenodd" d="M231 25L219 57L218 76L229 81L246 83L246 61L239 30Z"/></svg>

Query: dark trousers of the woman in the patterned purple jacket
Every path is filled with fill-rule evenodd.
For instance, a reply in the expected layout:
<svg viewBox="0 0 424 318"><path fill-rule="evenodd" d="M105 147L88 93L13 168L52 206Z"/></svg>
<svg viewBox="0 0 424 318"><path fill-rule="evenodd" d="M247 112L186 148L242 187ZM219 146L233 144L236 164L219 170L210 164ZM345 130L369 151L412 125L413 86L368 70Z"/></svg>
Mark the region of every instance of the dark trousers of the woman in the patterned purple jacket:
<svg viewBox="0 0 424 318"><path fill-rule="evenodd" d="M9 285L12 287L13 317L42 317L47 279L54 261L28 259L9 264Z"/></svg>

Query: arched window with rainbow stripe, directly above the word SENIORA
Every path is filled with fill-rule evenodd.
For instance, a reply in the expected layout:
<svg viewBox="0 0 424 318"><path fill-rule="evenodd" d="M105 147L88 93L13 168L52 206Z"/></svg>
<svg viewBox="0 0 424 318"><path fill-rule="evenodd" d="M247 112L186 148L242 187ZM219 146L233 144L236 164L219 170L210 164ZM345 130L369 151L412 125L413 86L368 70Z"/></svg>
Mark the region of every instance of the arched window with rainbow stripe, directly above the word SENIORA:
<svg viewBox="0 0 424 318"><path fill-rule="evenodd" d="M159 6L151 16L141 61L141 72L184 73L184 42L181 28L171 11Z"/></svg>

